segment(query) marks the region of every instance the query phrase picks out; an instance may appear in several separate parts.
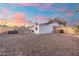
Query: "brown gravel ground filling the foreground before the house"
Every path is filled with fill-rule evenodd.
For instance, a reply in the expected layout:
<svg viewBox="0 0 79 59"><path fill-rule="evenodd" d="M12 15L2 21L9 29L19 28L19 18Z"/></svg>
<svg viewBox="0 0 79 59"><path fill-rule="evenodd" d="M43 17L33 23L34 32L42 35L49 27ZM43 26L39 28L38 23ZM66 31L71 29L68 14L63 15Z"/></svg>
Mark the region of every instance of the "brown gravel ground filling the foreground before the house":
<svg viewBox="0 0 79 59"><path fill-rule="evenodd" d="M79 56L79 37L50 33L0 34L1 56Z"/></svg>

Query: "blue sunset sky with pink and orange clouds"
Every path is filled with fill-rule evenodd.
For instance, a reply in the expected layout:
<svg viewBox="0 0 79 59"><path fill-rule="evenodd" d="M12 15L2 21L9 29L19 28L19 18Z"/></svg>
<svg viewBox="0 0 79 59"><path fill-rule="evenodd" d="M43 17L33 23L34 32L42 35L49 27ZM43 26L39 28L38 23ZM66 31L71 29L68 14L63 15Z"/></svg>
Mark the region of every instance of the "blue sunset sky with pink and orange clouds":
<svg viewBox="0 0 79 59"><path fill-rule="evenodd" d="M1 3L0 18L17 23L41 23L59 17L72 24L79 21L79 12L75 12L78 8L77 3Z"/></svg>

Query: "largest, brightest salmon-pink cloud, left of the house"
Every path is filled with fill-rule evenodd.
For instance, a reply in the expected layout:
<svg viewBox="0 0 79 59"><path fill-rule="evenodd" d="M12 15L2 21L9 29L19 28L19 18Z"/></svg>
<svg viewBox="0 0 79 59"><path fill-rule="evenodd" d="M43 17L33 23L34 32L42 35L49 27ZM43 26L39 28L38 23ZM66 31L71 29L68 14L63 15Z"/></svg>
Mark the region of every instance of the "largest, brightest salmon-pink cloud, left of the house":
<svg viewBox="0 0 79 59"><path fill-rule="evenodd" d="M25 14L24 13L14 13L12 15L12 19L17 23L24 24Z"/></svg>

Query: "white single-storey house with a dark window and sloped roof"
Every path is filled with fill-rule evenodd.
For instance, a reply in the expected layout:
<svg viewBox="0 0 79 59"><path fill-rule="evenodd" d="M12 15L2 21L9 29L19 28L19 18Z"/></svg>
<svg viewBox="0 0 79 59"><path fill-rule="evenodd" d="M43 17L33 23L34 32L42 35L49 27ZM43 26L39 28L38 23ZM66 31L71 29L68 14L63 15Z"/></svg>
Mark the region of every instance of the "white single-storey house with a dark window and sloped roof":
<svg viewBox="0 0 79 59"><path fill-rule="evenodd" d="M31 26L29 29L36 34L51 33L54 31L53 26L60 26L58 23L42 23Z"/></svg>

